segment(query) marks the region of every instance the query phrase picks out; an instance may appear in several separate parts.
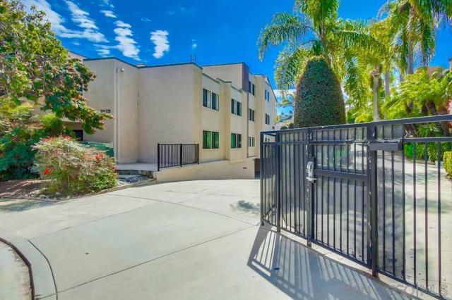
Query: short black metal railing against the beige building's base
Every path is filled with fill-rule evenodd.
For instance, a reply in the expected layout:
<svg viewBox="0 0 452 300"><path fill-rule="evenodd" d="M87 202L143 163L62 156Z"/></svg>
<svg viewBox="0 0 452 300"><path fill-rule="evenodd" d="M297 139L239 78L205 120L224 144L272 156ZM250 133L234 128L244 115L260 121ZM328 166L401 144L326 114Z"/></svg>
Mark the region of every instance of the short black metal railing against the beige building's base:
<svg viewBox="0 0 452 300"><path fill-rule="evenodd" d="M199 144L157 144L157 170L199 163Z"/></svg>

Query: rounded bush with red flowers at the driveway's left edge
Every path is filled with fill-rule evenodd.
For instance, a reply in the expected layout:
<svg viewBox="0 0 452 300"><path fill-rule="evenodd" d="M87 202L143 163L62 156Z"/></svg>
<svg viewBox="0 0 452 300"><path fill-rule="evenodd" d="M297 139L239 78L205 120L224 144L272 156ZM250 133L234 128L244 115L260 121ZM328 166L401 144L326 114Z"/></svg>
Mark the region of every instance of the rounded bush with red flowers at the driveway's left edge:
<svg viewBox="0 0 452 300"><path fill-rule="evenodd" d="M88 194L116 185L113 159L71 137L42 139L33 148L42 178L49 179L50 194Z"/></svg>

